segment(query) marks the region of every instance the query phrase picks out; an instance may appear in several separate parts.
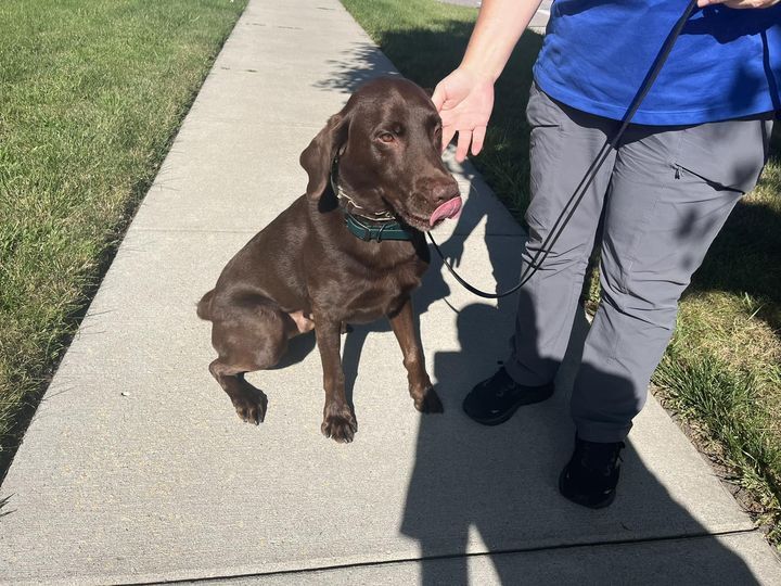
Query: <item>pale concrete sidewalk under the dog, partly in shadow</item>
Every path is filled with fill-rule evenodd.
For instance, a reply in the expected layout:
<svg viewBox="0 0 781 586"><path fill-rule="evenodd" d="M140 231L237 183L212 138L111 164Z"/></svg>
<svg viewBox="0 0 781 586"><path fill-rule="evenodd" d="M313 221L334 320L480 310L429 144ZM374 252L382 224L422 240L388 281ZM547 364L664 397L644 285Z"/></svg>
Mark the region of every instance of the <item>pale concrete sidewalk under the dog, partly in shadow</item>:
<svg viewBox="0 0 781 586"><path fill-rule="evenodd" d="M393 65L336 0L253 0L132 222L0 489L0 582L107 584L779 584L750 519L653 400L603 511L555 488L556 397L486 429L461 413L505 352L514 301L477 301L434 266L417 295L443 416L420 416L385 323L344 340L356 441L320 435L313 337L253 374L241 423L206 367L200 296L298 196L298 154ZM464 276L512 283L523 234L469 165L439 233Z"/></svg>

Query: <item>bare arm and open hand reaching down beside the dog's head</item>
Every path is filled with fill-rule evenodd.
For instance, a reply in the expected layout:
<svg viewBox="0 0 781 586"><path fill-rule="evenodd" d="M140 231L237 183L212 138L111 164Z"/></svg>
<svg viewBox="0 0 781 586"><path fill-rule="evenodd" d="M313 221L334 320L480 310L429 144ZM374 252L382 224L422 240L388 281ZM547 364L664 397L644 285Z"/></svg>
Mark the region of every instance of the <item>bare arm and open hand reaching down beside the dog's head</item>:
<svg viewBox="0 0 781 586"><path fill-rule="evenodd" d="M456 158L483 148L494 84L541 0L484 0L463 60L437 84L432 100L443 119L443 149L458 132Z"/></svg>

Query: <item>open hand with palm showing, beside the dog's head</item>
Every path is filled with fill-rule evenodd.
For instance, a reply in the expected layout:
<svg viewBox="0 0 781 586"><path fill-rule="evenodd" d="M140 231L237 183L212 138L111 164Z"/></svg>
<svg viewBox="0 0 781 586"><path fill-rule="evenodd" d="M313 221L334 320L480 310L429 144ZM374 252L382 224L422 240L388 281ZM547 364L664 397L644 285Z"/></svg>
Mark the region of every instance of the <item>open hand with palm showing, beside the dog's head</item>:
<svg viewBox="0 0 781 586"><path fill-rule="evenodd" d="M483 149L486 126L494 110L494 79L459 67L437 84L432 95L443 120L443 151L458 132L456 161L466 158Z"/></svg>

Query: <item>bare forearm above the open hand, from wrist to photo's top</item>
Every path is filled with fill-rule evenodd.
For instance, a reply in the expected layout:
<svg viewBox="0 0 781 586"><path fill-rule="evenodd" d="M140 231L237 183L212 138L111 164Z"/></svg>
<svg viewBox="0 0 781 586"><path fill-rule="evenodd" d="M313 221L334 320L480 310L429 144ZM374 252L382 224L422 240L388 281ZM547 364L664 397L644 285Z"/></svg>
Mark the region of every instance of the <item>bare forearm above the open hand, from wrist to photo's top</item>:
<svg viewBox="0 0 781 586"><path fill-rule="evenodd" d="M540 3L541 0L483 0L461 67L496 80Z"/></svg>

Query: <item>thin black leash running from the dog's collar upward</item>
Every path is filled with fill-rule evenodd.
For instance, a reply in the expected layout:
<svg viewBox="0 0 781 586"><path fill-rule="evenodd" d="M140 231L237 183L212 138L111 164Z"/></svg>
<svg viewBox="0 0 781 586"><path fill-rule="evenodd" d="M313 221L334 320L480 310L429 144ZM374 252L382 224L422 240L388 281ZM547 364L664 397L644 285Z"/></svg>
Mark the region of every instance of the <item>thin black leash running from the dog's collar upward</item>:
<svg viewBox="0 0 781 586"><path fill-rule="evenodd" d="M658 77L660 72L662 71L662 66L667 61L667 58L670 54L670 51L673 50L673 47L675 46L676 40L678 40L678 37L681 34L681 30L683 30L683 26L686 26L687 21L689 21L689 17L694 12L694 9L696 9L697 0L690 0L689 5L687 5L686 10L683 11L683 14L680 18L678 18L678 22L675 24L673 29L670 30L670 34L667 36L667 39L665 40L664 44L662 46L662 49L660 50L658 54L656 55L656 59L654 60L653 65L651 66L651 69L649 71L648 75L645 75L645 79L643 79L643 82L640 85L640 89L638 90L637 94L635 95L635 99L632 100L631 104L629 104L629 107L627 109L626 114L624 114L624 117L622 118L622 125L618 128L618 131L615 133L613 139L605 140L604 144L600 149L599 154L597 155L597 158L594 158L593 163L591 163L591 166L586 171L586 175L584 175L584 178L580 180L580 183L575 188L575 191L573 192L572 196L567 201L567 203L564 205L564 209L562 209L562 213L556 218L556 221L553 224L553 227L551 228L550 233L545 239L542 244L540 245L540 250L537 251L537 254L532 259L532 262L526 266L525 270L521 275L521 279L518 280L518 283L513 286L512 289L508 291L503 291L502 293L486 293L485 291L481 291L479 289L471 285L466 281L464 281L461 276L456 272L456 269L452 268L450 263L448 263L445 259L445 255L443 254L441 250L439 250L439 246L437 245L436 241L434 240L434 237L431 234L431 232L426 232L428 234L428 240L434 245L434 250L437 252L437 254L441 257L443 263L450 271L450 275L452 275L456 280L461 283L466 290L471 291L475 295L478 295L481 297L485 297L487 300L498 300L499 297L505 297L507 295L511 295L515 293L518 289L521 289L523 285L525 285L528 280L534 276L537 270L539 270L540 266L545 262L545 259L548 257L548 254L550 254L551 250L555 245L556 241L559 240L559 237L561 237L562 232L564 231L564 228L566 228L566 225L569 224L569 220L572 219L573 215L575 214L575 211L577 209L578 205L582 201L582 199L586 196L586 190L591 186L591 183L594 180L594 177L597 176L597 171L602 167L604 162L607 160L607 155L612 150L615 150L618 146L618 142L620 141L622 137L624 136L624 132L626 131L627 127L629 126L629 123L635 117L635 114L637 114L638 109L640 107L640 104L645 99L645 95L648 95L648 92L651 90L651 87L653 86L654 81L656 81L656 77ZM567 212L567 208L571 204L572 209ZM565 217L566 216L566 217ZM563 220L563 222L562 222ZM561 225L561 226L560 226Z"/></svg>

